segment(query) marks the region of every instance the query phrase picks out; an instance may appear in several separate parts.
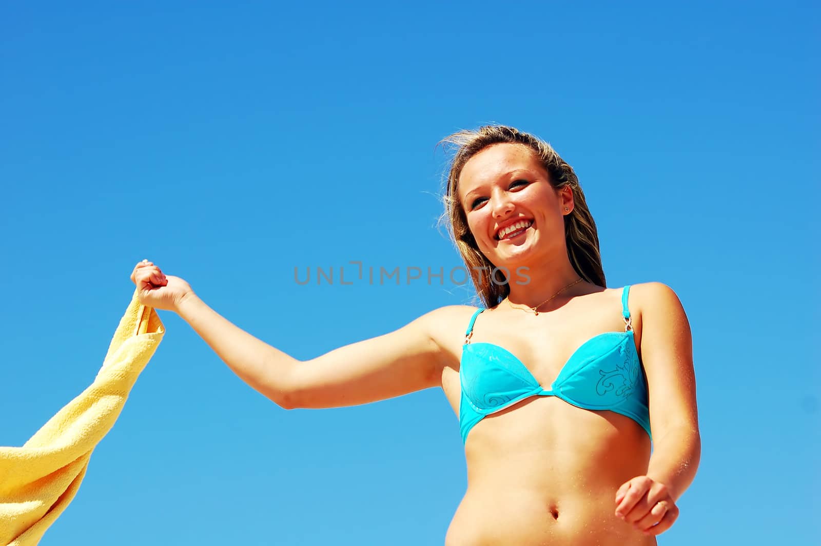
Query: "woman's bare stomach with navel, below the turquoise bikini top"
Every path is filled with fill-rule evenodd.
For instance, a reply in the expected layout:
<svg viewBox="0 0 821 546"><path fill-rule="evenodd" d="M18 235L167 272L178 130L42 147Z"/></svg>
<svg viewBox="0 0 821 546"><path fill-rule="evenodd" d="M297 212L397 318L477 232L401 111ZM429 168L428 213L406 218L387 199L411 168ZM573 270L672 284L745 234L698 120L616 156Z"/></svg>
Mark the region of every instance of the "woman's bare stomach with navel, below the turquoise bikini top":
<svg viewBox="0 0 821 546"><path fill-rule="evenodd" d="M555 397L485 417L466 442L468 487L446 546L650 546L615 515L616 491L644 475L639 424Z"/></svg>

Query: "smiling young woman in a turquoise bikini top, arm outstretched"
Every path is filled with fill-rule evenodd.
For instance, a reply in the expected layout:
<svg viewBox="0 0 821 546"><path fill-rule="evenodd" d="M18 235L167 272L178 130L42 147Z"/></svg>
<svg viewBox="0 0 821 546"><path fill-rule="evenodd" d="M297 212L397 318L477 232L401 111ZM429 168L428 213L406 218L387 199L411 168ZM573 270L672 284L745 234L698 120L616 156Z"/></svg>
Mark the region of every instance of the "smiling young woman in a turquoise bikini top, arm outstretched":
<svg viewBox="0 0 821 546"><path fill-rule="evenodd" d="M285 408L441 386L468 471L449 546L656 544L699 464L681 302L660 282L606 287L576 174L544 141L507 126L445 141L458 146L447 217L484 308L443 307L301 362L147 260L131 275L140 301L180 314Z"/></svg>

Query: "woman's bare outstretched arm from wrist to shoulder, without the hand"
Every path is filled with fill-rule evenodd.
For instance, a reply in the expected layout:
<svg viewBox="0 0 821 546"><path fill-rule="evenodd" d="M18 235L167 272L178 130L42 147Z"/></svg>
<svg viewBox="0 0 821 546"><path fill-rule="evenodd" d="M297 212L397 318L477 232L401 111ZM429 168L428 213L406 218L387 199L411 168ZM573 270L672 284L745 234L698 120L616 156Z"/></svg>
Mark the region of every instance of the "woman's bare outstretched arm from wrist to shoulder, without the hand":
<svg viewBox="0 0 821 546"><path fill-rule="evenodd" d="M355 406L437 387L447 356L433 333L442 331L445 315L458 313L434 310L394 332L300 361L238 328L193 291L175 310L245 383L286 409Z"/></svg>

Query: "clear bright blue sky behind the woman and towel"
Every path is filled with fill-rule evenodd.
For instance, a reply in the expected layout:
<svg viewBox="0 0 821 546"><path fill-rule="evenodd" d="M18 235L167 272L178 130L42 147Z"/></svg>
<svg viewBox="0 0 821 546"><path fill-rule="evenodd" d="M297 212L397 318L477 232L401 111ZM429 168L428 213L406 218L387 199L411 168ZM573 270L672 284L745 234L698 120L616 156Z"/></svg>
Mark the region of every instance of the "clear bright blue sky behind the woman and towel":
<svg viewBox="0 0 821 546"><path fill-rule="evenodd" d="M690 318L703 455L659 544L809 544L817 6L4 2L0 444L94 379L143 258L301 359L470 303L294 268L460 265L434 146L500 122L576 168L608 286ZM161 316L43 546L442 544L466 470L440 389L285 411Z"/></svg>

